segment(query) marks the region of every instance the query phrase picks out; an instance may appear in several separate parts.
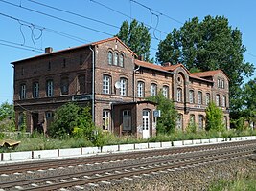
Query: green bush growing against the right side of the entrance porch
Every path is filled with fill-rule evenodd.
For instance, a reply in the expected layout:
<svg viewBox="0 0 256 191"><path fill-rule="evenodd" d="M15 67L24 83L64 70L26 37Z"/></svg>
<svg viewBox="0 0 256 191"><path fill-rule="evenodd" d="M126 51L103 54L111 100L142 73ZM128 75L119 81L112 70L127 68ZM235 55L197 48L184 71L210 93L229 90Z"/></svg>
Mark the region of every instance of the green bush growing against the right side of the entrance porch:
<svg viewBox="0 0 256 191"><path fill-rule="evenodd" d="M172 133L175 130L177 111L172 100L166 98L160 91L157 96L148 98L157 103L157 110L161 111L161 117L157 117L157 134Z"/></svg>

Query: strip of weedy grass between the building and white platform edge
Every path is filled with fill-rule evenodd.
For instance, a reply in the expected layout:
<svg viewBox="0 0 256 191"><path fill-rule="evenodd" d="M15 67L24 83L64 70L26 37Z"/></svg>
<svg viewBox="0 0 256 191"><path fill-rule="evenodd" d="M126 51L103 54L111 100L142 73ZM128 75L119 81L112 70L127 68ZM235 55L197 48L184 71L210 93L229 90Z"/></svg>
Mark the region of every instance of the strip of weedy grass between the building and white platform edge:
<svg viewBox="0 0 256 191"><path fill-rule="evenodd" d="M108 132L104 133L103 142L104 145L113 144L131 144L142 142L164 142L175 141L185 139L203 139L203 138L230 138L238 136L250 136L256 135L256 131L247 130L238 132L235 130L229 130L223 133L218 132L206 132L198 131L196 133L175 131L170 135L157 135L149 139L135 138L134 136L117 137ZM21 141L21 143L15 148L0 148L2 152L15 152L15 151L35 151L35 150L49 150L49 149L61 149L61 148L79 148L94 146L92 141L87 138L46 138L40 134L3 134L0 133L0 139L12 139Z"/></svg>

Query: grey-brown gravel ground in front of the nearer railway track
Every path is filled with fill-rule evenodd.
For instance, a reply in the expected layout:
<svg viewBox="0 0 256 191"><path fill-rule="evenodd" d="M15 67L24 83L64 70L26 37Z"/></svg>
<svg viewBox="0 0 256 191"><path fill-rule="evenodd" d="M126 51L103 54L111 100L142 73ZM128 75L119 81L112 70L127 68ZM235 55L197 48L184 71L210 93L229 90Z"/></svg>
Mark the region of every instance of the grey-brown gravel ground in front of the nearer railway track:
<svg viewBox="0 0 256 191"><path fill-rule="evenodd" d="M213 182L217 180L232 180L238 173L244 173L244 175L256 174L256 156L252 159L226 160L220 163L211 163L174 172L143 176L133 180L122 180L108 185L101 183L96 187L87 186L86 190L207 190L208 186Z"/></svg>

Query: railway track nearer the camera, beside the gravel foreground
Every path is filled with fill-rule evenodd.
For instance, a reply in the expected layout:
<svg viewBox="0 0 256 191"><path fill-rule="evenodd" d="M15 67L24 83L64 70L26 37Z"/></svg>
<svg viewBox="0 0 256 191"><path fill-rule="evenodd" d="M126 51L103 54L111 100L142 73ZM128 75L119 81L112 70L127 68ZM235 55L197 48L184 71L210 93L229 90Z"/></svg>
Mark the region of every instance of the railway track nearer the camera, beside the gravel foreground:
<svg viewBox="0 0 256 191"><path fill-rule="evenodd" d="M139 177L145 174L162 171L173 171L176 168L186 168L210 162L220 162L227 159L249 156L256 149L255 141L246 141L229 146L210 149L208 151L194 151L183 155L176 154L174 159L158 159L157 161L140 162L131 165L120 165L117 167L106 167L104 169L81 171L80 173L69 173L66 175L55 175L40 177L30 180L15 180L1 182L3 190L58 190L60 188L82 187L97 182L120 180L122 178ZM171 154L172 155L172 154Z"/></svg>

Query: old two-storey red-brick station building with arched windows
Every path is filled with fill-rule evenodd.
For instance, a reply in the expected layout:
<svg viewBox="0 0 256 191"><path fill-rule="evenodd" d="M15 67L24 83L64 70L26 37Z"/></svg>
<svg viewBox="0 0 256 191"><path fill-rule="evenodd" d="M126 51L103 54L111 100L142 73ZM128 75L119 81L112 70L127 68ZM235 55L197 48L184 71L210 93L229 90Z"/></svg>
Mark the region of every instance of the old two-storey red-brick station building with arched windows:
<svg viewBox="0 0 256 191"><path fill-rule="evenodd" d="M156 132L156 106L145 97L160 90L175 101L177 128L184 130L191 120L203 128L210 100L223 109L229 128L228 78L221 70L191 74L182 64L158 66L136 56L113 37L12 62L17 128L25 114L27 131L41 124L45 132L55 110L75 101L91 106L95 124L105 131L149 138Z"/></svg>

